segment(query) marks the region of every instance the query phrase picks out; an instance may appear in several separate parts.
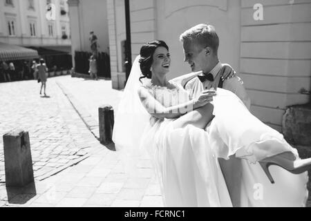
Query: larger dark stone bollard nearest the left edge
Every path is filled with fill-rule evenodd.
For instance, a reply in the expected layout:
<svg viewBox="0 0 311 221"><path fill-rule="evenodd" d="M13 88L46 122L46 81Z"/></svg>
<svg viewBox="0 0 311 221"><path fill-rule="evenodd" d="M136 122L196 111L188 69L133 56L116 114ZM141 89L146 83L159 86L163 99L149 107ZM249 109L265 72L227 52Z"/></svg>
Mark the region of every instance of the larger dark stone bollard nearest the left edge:
<svg viewBox="0 0 311 221"><path fill-rule="evenodd" d="M10 131L3 135L6 186L22 187L34 182L29 134Z"/></svg>

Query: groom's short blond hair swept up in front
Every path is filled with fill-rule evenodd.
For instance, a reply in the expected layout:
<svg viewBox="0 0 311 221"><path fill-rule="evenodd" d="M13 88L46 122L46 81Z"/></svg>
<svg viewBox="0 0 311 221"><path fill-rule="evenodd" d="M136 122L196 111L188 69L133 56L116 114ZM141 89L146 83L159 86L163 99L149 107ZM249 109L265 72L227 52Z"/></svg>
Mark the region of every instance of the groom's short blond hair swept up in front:
<svg viewBox="0 0 311 221"><path fill-rule="evenodd" d="M200 23L183 32L179 39L182 42L198 44L198 46L201 46L202 48L209 47L213 49L217 55L219 38L214 26Z"/></svg>

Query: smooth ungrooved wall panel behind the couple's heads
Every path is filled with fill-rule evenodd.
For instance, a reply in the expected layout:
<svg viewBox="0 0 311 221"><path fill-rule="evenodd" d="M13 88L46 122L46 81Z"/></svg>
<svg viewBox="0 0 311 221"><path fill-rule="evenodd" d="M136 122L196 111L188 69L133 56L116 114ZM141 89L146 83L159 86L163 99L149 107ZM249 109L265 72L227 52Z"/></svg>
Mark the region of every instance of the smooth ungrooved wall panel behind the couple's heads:
<svg viewBox="0 0 311 221"><path fill-rule="evenodd" d="M220 39L220 61L238 72L241 35L241 3L236 0L157 0L156 38L167 42L171 52L169 79L191 72L184 62L179 36L199 23L210 23Z"/></svg>

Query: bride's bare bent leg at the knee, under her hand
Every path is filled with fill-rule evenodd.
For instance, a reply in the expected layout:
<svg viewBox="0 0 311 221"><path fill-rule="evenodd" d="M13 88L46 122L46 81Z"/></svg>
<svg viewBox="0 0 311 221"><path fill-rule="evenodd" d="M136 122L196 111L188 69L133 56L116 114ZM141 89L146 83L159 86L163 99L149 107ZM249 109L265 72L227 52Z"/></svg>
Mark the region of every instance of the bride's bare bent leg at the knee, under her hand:
<svg viewBox="0 0 311 221"><path fill-rule="evenodd" d="M213 105L206 104L205 106L182 115L178 119L174 120L173 126L174 128L183 128L189 124L192 124L193 126L204 129L214 117L213 110Z"/></svg>

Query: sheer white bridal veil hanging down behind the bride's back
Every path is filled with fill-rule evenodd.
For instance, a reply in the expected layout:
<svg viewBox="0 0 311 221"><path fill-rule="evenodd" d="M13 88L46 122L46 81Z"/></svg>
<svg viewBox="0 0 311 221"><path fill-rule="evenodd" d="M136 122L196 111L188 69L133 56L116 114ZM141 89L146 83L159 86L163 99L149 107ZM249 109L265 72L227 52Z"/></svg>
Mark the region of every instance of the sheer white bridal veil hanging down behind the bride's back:
<svg viewBox="0 0 311 221"><path fill-rule="evenodd" d="M139 59L140 56L136 57L133 62L113 126L115 148L120 151L124 169L129 173L136 173L136 166L140 158L147 157L144 149L140 148L140 142L145 128L149 126L150 115L142 106L138 96L138 88L142 85L139 81L142 76Z"/></svg>

